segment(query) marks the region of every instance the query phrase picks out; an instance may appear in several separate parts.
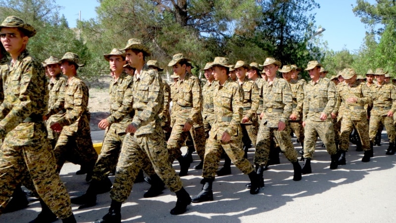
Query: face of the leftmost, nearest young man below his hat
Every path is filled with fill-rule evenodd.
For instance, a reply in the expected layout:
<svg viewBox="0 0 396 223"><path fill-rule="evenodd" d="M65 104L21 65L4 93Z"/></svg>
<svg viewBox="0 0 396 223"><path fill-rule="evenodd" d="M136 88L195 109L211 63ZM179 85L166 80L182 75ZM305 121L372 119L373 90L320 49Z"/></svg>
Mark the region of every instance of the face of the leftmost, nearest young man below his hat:
<svg viewBox="0 0 396 223"><path fill-rule="evenodd" d="M0 30L0 40L5 51L13 55L21 51L23 46L28 43L29 38L23 36L18 28L3 27Z"/></svg>

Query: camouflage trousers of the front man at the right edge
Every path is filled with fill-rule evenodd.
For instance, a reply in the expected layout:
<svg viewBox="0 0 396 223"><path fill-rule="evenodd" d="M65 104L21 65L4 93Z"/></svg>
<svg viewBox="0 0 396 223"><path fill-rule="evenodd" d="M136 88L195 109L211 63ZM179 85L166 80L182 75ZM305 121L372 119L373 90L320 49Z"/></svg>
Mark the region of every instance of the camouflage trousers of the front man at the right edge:
<svg viewBox="0 0 396 223"><path fill-rule="evenodd" d="M369 136L370 141L374 142L375 135L377 134L377 130L380 127L380 123L385 126L387 130L389 142L395 142L396 132L395 125L393 124L393 118L389 116L379 116L373 115L370 116L370 126L369 126Z"/></svg>

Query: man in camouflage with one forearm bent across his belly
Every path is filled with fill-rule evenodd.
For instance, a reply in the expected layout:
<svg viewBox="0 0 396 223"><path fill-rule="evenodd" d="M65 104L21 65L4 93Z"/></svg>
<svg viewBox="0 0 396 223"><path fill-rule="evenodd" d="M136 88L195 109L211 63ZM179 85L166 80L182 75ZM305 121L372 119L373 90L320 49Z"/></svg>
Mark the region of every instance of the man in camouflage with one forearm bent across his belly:
<svg viewBox="0 0 396 223"><path fill-rule="evenodd" d="M362 162L369 162L373 155L373 150L370 149L370 140L368 136L368 123L364 106L372 102L370 90L366 85L358 84L356 82L356 72L354 69L346 68L341 71L346 85L340 90L340 97L343 100L345 111L343 114L343 121L341 122L342 139L339 143L339 150L337 155L339 158L339 165L345 165L345 153L349 147L349 134L356 129L360 136L361 149L364 151ZM341 163L341 164L340 164Z"/></svg>

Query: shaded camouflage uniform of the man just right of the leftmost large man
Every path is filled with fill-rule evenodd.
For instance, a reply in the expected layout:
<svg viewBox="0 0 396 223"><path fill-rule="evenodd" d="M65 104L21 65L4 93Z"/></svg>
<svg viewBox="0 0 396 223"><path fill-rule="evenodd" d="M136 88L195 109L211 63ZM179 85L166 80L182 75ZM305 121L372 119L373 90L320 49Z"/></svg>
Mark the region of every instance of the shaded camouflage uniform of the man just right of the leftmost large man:
<svg viewBox="0 0 396 223"><path fill-rule="evenodd" d="M65 161L92 168L98 159L91 139L88 99L87 85L77 76L69 78L65 94L59 99L66 112L58 120L63 129L53 150L58 171ZM57 110L63 109L62 105Z"/></svg>

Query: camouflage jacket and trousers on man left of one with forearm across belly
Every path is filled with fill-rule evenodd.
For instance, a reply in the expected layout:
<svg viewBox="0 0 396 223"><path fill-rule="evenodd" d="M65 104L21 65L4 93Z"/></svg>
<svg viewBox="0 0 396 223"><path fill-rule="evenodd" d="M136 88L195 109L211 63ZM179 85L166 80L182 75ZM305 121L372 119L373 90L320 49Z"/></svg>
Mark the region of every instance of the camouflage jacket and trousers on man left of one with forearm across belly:
<svg viewBox="0 0 396 223"><path fill-rule="evenodd" d="M304 158L312 159L318 135L330 155L337 153L330 115L335 106L336 89L332 81L319 78L318 82L307 83L304 88L302 109L302 121L305 121ZM327 119L323 121L320 120L322 112L327 114Z"/></svg>

